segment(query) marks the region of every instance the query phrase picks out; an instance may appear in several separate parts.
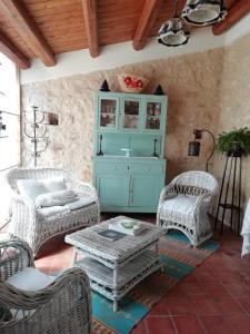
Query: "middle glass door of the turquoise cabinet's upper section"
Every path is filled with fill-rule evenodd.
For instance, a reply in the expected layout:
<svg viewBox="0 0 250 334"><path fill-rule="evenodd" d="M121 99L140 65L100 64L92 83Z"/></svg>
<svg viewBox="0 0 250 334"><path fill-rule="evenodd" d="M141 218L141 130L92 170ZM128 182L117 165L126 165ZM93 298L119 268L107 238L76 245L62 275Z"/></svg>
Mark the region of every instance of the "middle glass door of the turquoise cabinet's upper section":
<svg viewBox="0 0 250 334"><path fill-rule="evenodd" d="M123 129L138 129L140 120L140 100L123 99L122 114Z"/></svg>

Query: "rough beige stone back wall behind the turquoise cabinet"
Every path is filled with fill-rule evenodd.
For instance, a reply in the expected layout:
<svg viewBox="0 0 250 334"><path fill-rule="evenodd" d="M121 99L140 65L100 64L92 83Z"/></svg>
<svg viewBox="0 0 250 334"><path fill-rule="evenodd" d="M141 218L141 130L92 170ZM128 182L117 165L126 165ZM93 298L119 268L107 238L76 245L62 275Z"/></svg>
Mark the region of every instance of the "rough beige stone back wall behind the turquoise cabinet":
<svg viewBox="0 0 250 334"><path fill-rule="evenodd" d="M59 114L59 126L49 128L50 143L38 166L72 169L81 179L91 180L94 107L93 96L107 79L112 91L119 91L117 75L132 72L150 79L146 92L161 84L169 97L166 157L167 180L181 171L204 169L211 141L203 138L201 156L188 157L193 128L214 130L218 125L219 91L223 49L184 55L124 66L113 70L77 75L22 86L22 109L38 106ZM206 136L206 135L204 135ZM23 151L23 165L32 166Z"/></svg>

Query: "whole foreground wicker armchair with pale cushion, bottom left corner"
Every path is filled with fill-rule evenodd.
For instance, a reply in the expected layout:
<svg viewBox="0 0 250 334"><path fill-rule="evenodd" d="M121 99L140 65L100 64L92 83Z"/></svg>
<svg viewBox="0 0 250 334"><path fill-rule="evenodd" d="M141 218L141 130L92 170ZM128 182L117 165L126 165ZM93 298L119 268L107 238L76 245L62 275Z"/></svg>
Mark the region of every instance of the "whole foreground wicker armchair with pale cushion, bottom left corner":
<svg viewBox="0 0 250 334"><path fill-rule="evenodd" d="M91 332L89 279L80 268L52 277L34 268L27 243L0 243L0 333Z"/></svg>

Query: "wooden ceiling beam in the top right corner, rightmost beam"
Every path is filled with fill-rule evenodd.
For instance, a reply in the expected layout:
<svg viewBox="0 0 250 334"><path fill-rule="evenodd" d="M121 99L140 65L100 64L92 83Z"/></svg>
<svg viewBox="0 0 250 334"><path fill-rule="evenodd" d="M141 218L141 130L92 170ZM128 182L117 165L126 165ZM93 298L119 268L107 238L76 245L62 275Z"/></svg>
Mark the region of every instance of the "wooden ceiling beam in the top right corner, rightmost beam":
<svg viewBox="0 0 250 334"><path fill-rule="evenodd" d="M218 36L231 28L242 17L250 11L250 0L239 0L233 4L226 17L226 19L213 26L212 32Z"/></svg>

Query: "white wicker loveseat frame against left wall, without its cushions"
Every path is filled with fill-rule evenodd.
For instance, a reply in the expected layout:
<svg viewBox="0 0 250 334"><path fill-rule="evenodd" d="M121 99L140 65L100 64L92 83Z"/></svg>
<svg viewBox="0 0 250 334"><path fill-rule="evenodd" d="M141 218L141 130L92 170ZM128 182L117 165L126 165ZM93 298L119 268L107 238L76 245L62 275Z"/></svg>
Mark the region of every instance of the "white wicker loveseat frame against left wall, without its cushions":
<svg viewBox="0 0 250 334"><path fill-rule="evenodd" d="M78 190L91 198L91 204L64 214L44 217L28 197L18 191L19 179L63 178L67 188ZM69 171L58 168L13 168L7 174L7 181L12 189L10 235L26 240L34 255L50 237L78 227L97 224L100 220L98 195L93 186L77 180Z"/></svg>

